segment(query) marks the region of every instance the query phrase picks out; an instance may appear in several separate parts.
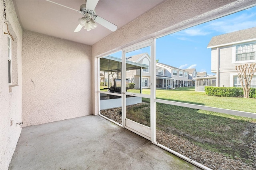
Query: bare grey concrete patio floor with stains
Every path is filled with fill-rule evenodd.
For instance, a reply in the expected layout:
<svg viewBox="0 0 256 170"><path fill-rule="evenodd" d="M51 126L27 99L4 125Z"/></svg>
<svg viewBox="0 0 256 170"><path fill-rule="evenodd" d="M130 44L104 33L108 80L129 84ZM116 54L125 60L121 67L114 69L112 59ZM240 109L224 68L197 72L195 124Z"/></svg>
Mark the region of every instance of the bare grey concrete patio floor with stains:
<svg viewBox="0 0 256 170"><path fill-rule="evenodd" d="M22 128L9 169L200 168L100 116L90 115Z"/></svg>

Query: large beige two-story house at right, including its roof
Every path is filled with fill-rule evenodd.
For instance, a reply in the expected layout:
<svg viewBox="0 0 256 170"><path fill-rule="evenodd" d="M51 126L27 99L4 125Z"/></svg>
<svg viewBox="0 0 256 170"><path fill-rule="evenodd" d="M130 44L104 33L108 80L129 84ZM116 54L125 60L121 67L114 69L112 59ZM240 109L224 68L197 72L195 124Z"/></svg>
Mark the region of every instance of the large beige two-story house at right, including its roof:
<svg viewBox="0 0 256 170"><path fill-rule="evenodd" d="M216 86L241 87L235 67L256 62L256 27L214 36L207 48L212 49L211 72L216 73ZM251 87L256 87L256 75Z"/></svg>

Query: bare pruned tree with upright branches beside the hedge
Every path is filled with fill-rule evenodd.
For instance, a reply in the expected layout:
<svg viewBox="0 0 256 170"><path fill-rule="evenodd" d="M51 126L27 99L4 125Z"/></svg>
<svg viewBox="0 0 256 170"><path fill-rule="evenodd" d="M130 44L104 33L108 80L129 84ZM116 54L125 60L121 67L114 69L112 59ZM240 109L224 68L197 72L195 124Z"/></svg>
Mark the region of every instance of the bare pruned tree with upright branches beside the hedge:
<svg viewBox="0 0 256 170"><path fill-rule="evenodd" d="M256 72L255 66L256 63L251 63L250 65L246 63L244 65L236 66L236 71L238 73L238 77L244 90L244 98L249 98L252 77Z"/></svg>

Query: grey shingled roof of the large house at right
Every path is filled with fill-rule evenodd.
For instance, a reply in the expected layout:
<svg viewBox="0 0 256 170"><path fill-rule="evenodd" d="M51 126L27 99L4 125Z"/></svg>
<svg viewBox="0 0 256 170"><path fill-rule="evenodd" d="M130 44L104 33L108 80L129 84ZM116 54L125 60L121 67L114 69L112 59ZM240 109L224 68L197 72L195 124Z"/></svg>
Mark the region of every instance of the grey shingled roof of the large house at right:
<svg viewBox="0 0 256 170"><path fill-rule="evenodd" d="M245 30L240 30L236 32L231 32L228 34L222 34L219 36L214 36L210 40L207 48L220 47L224 45L232 45L234 43L240 43L245 40L256 40L256 27L248 28Z"/></svg>

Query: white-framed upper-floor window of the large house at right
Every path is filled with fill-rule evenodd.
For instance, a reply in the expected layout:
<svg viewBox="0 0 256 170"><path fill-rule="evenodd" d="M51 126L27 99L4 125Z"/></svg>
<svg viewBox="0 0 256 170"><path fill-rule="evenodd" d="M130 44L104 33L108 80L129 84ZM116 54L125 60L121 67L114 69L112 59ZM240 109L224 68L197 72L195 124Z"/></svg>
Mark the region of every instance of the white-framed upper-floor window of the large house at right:
<svg viewBox="0 0 256 170"><path fill-rule="evenodd" d="M250 45L250 48L245 49L244 52L238 53L238 46L246 46ZM237 60L237 55L242 53L254 53L254 59L248 59L248 60ZM255 41L248 41L243 43L236 43L232 45L232 63L250 63L256 61L256 42Z"/></svg>

